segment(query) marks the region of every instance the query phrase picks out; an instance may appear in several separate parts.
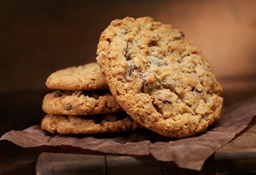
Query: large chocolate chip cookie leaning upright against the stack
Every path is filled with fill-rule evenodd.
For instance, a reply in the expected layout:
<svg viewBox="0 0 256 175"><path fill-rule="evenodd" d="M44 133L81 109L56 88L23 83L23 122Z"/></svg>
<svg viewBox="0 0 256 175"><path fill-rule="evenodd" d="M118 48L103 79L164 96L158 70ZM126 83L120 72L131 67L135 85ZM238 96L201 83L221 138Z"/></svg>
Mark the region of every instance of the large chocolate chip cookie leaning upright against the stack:
<svg viewBox="0 0 256 175"><path fill-rule="evenodd" d="M151 17L113 20L100 36L97 55L113 96L143 127L183 138L219 118L222 87L181 30Z"/></svg>

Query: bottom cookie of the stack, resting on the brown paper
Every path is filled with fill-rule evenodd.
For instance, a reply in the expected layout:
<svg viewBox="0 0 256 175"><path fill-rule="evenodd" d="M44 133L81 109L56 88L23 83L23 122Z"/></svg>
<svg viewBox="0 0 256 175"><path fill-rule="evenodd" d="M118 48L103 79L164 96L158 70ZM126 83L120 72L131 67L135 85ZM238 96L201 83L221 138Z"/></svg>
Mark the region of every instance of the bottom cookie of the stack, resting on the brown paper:
<svg viewBox="0 0 256 175"><path fill-rule="evenodd" d="M110 113L83 117L46 114L41 128L50 133L93 134L133 131L142 127L125 113Z"/></svg>

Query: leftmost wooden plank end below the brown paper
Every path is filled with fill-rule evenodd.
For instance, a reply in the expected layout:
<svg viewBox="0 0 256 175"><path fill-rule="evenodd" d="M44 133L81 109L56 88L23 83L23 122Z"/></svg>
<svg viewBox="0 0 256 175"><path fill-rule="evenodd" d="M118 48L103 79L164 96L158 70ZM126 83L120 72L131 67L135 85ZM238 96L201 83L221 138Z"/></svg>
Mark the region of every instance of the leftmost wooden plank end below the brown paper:
<svg viewBox="0 0 256 175"><path fill-rule="evenodd" d="M42 152L36 164L36 174L106 174L105 156Z"/></svg>

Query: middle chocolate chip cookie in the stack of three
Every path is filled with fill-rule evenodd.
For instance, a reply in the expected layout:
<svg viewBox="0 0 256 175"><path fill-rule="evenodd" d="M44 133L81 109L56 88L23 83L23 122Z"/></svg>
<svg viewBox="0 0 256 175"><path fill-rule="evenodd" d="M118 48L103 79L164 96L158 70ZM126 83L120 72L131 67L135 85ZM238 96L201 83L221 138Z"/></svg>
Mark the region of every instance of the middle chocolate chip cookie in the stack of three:
<svg viewBox="0 0 256 175"><path fill-rule="evenodd" d="M42 110L47 114L87 115L123 110L109 90L60 91L46 94Z"/></svg>

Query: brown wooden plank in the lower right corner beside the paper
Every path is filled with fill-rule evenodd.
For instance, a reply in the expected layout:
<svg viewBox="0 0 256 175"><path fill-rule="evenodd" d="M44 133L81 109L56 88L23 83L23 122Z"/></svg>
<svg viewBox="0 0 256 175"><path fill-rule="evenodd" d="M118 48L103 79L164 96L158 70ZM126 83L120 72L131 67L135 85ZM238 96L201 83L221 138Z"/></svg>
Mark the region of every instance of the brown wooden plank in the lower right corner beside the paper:
<svg viewBox="0 0 256 175"><path fill-rule="evenodd" d="M256 117L244 131L215 153L217 174L256 173Z"/></svg>

